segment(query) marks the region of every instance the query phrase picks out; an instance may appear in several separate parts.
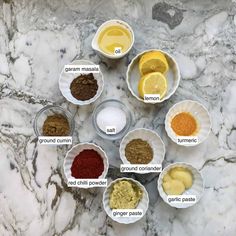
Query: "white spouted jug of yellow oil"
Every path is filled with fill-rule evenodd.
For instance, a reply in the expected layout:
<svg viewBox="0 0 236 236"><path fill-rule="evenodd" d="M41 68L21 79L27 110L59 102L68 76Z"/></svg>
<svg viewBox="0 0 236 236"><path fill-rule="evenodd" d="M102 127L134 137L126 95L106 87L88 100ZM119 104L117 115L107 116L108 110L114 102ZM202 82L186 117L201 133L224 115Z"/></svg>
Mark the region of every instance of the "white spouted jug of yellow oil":
<svg viewBox="0 0 236 236"><path fill-rule="evenodd" d="M130 25L121 20L104 22L92 40L92 48L111 59L125 56L133 44L134 32Z"/></svg>

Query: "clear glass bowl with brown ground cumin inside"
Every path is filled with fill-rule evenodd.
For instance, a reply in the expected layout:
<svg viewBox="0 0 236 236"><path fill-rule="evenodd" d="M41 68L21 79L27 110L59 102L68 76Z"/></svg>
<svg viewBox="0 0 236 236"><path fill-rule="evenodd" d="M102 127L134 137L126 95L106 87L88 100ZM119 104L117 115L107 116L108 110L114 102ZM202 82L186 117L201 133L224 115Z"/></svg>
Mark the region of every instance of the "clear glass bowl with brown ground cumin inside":
<svg viewBox="0 0 236 236"><path fill-rule="evenodd" d="M70 112L56 105L43 107L35 116L34 132L37 136L72 136L74 120Z"/></svg>

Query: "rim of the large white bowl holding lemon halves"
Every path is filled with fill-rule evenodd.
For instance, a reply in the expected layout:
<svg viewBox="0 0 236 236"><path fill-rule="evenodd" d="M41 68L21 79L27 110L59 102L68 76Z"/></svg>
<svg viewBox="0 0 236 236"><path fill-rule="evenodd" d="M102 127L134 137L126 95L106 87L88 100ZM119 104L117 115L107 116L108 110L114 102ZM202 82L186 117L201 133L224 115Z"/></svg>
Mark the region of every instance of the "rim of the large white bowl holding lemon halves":
<svg viewBox="0 0 236 236"><path fill-rule="evenodd" d="M171 60L173 61L173 63L175 64L176 66L176 73L177 73L177 84L176 86L174 86L174 90L168 95L168 96L164 96L164 98L161 100L161 101L156 101L156 102L153 102L153 103L145 103L143 98L137 96L135 94L135 92L132 90L131 88L131 85L130 85L130 70L131 70L131 66L133 66L134 64L134 61L137 60L138 57L142 56L143 54L147 53L147 52L151 52L151 51L159 51L159 52L162 52L164 55L167 55L169 58L171 58ZM131 94L139 101L145 103L145 104L159 104L159 103L162 103L166 100L168 100L177 90L177 88L179 87L179 84L180 84L180 80L181 80L181 75L180 75L180 69L179 69L179 65L177 63L177 61L175 60L175 58L167 51L164 51L162 49L147 49L147 50L144 50L140 53L138 53L132 60L131 62L129 63L128 65L128 68L127 68L127 71L126 71L126 83L128 85L128 89L129 91L131 92Z"/></svg>

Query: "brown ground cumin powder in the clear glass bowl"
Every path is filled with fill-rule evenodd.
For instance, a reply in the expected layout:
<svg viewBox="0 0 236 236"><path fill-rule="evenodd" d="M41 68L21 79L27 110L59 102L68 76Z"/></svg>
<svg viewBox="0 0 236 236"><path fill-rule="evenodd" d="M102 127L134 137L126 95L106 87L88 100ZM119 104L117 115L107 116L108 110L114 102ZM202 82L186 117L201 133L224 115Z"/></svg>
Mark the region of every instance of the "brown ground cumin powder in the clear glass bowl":
<svg viewBox="0 0 236 236"><path fill-rule="evenodd" d="M48 116L43 123L44 136L68 136L70 125L66 117L61 114Z"/></svg>

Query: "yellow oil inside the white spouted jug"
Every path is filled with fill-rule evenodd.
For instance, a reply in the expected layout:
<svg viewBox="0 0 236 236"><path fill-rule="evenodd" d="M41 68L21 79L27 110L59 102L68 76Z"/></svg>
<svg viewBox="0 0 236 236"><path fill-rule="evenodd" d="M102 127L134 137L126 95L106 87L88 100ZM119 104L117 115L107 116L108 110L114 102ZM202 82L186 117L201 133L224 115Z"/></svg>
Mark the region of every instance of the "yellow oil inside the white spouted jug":
<svg viewBox="0 0 236 236"><path fill-rule="evenodd" d="M115 49L120 48L125 53L131 45L131 34L122 26L114 25L105 28L98 37L99 48L110 55L115 55Z"/></svg>

